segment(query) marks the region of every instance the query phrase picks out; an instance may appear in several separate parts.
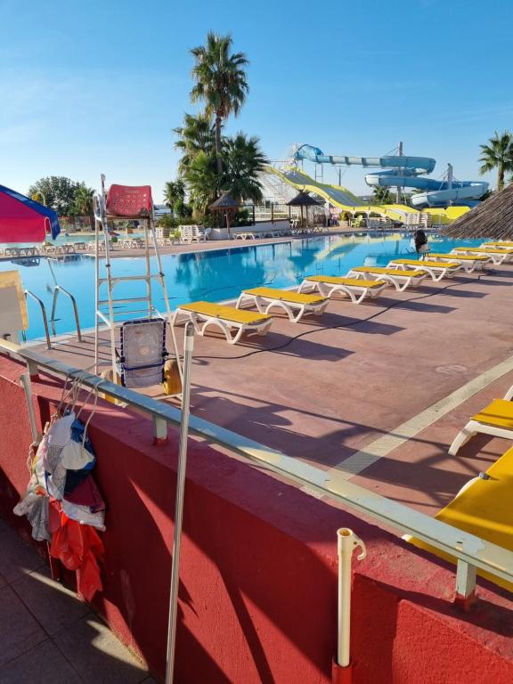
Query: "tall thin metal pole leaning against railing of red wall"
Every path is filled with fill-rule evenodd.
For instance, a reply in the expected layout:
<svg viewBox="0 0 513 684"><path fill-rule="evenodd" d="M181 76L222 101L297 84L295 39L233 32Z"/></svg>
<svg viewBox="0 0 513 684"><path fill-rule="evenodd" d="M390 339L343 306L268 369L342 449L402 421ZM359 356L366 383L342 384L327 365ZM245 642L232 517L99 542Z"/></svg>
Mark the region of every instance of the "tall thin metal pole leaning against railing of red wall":
<svg viewBox="0 0 513 684"><path fill-rule="evenodd" d="M176 610L178 604L178 580L180 566L180 542L182 539L183 492L185 488L185 469L187 467L187 437L189 433L189 406L191 399L191 359L194 345L194 326L185 325L183 342L183 394L182 420L180 423L180 447L178 452L178 472L176 478L175 535L173 541L173 560L171 566L171 589L169 591L169 618L167 623L167 668L166 684L173 684L175 671Z"/></svg>

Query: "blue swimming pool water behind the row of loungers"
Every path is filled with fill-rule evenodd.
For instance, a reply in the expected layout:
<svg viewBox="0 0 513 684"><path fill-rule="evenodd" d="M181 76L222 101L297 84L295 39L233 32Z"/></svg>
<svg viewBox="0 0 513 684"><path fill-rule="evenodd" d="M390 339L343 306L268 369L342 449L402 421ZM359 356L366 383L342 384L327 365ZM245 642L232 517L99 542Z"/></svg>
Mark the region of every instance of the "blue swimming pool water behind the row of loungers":
<svg viewBox="0 0 513 684"><path fill-rule="evenodd" d="M449 240L430 237L432 251L450 252L457 246L475 246L482 240ZM162 256L167 278L167 291L171 307L204 299L211 302L238 297L241 289L259 285L283 288L301 282L308 274L344 275L357 265L387 265L401 256L414 256L411 237L395 233L372 237L370 235L306 238L274 245L251 244L240 248L201 251L189 254ZM103 261L101 271L104 274ZM156 270L154 261L153 270ZM48 315L52 309L53 274L45 259L39 265L26 266L11 261L0 262L1 271L19 269L23 285L45 302ZM83 329L94 326L94 258L80 256L76 261L52 262L57 282L77 298L80 324ZM134 257L112 260L112 274L142 273L142 259ZM120 283L115 297L136 297L142 294L142 284ZM102 293L102 296L106 293ZM164 311L162 290L153 286L153 303ZM132 305L133 307L134 305ZM120 309L122 313L122 309ZM69 300L60 296L56 323L58 334L74 330ZM126 314L126 318L140 315ZM44 335L43 323L37 304L28 300L28 339Z"/></svg>

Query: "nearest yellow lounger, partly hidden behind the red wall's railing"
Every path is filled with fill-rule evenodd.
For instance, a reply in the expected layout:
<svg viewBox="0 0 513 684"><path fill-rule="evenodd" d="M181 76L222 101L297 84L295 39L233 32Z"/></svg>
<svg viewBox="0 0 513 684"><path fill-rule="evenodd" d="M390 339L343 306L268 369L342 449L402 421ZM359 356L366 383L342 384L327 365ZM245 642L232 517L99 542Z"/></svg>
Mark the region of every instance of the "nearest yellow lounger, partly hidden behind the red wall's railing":
<svg viewBox="0 0 513 684"><path fill-rule="evenodd" d="M499 460L496 460L485 472L485 477L473 477L464 485L454 499L436 514L436 519L457 527L459 530L475 534L513 551L513 507L511 491L513 488L513 449L509 449ZM420 549L429 550L437 556L454 563L443 551L431 547L426 542L406 535L405 539ZM507 580L477 570L477 574L513 591L513 585Z"/></svg>

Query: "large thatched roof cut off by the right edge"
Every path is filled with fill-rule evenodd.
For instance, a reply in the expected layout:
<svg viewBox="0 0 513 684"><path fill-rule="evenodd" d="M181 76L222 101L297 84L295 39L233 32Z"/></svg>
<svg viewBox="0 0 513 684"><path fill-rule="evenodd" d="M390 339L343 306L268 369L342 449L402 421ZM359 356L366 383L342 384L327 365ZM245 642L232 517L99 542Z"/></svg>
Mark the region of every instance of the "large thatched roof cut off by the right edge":
<svg viewBox="0 0 513 684"><path fill-rule="evenodd" d="M460 216L444 232L452 238L513 240L513 183Z"/></svg>

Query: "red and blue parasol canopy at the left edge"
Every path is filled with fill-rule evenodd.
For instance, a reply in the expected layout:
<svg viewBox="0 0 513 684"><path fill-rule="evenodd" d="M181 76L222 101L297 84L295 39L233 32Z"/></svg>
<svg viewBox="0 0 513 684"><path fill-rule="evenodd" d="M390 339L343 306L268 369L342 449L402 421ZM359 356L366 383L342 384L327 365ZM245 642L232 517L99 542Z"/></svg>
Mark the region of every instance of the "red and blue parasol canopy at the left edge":
<svg viewBox="0 0 513 684"><path fill-rule="evenodd" d="M44 242L61 232L53 209L0 185L0 242Z"/></svg>

